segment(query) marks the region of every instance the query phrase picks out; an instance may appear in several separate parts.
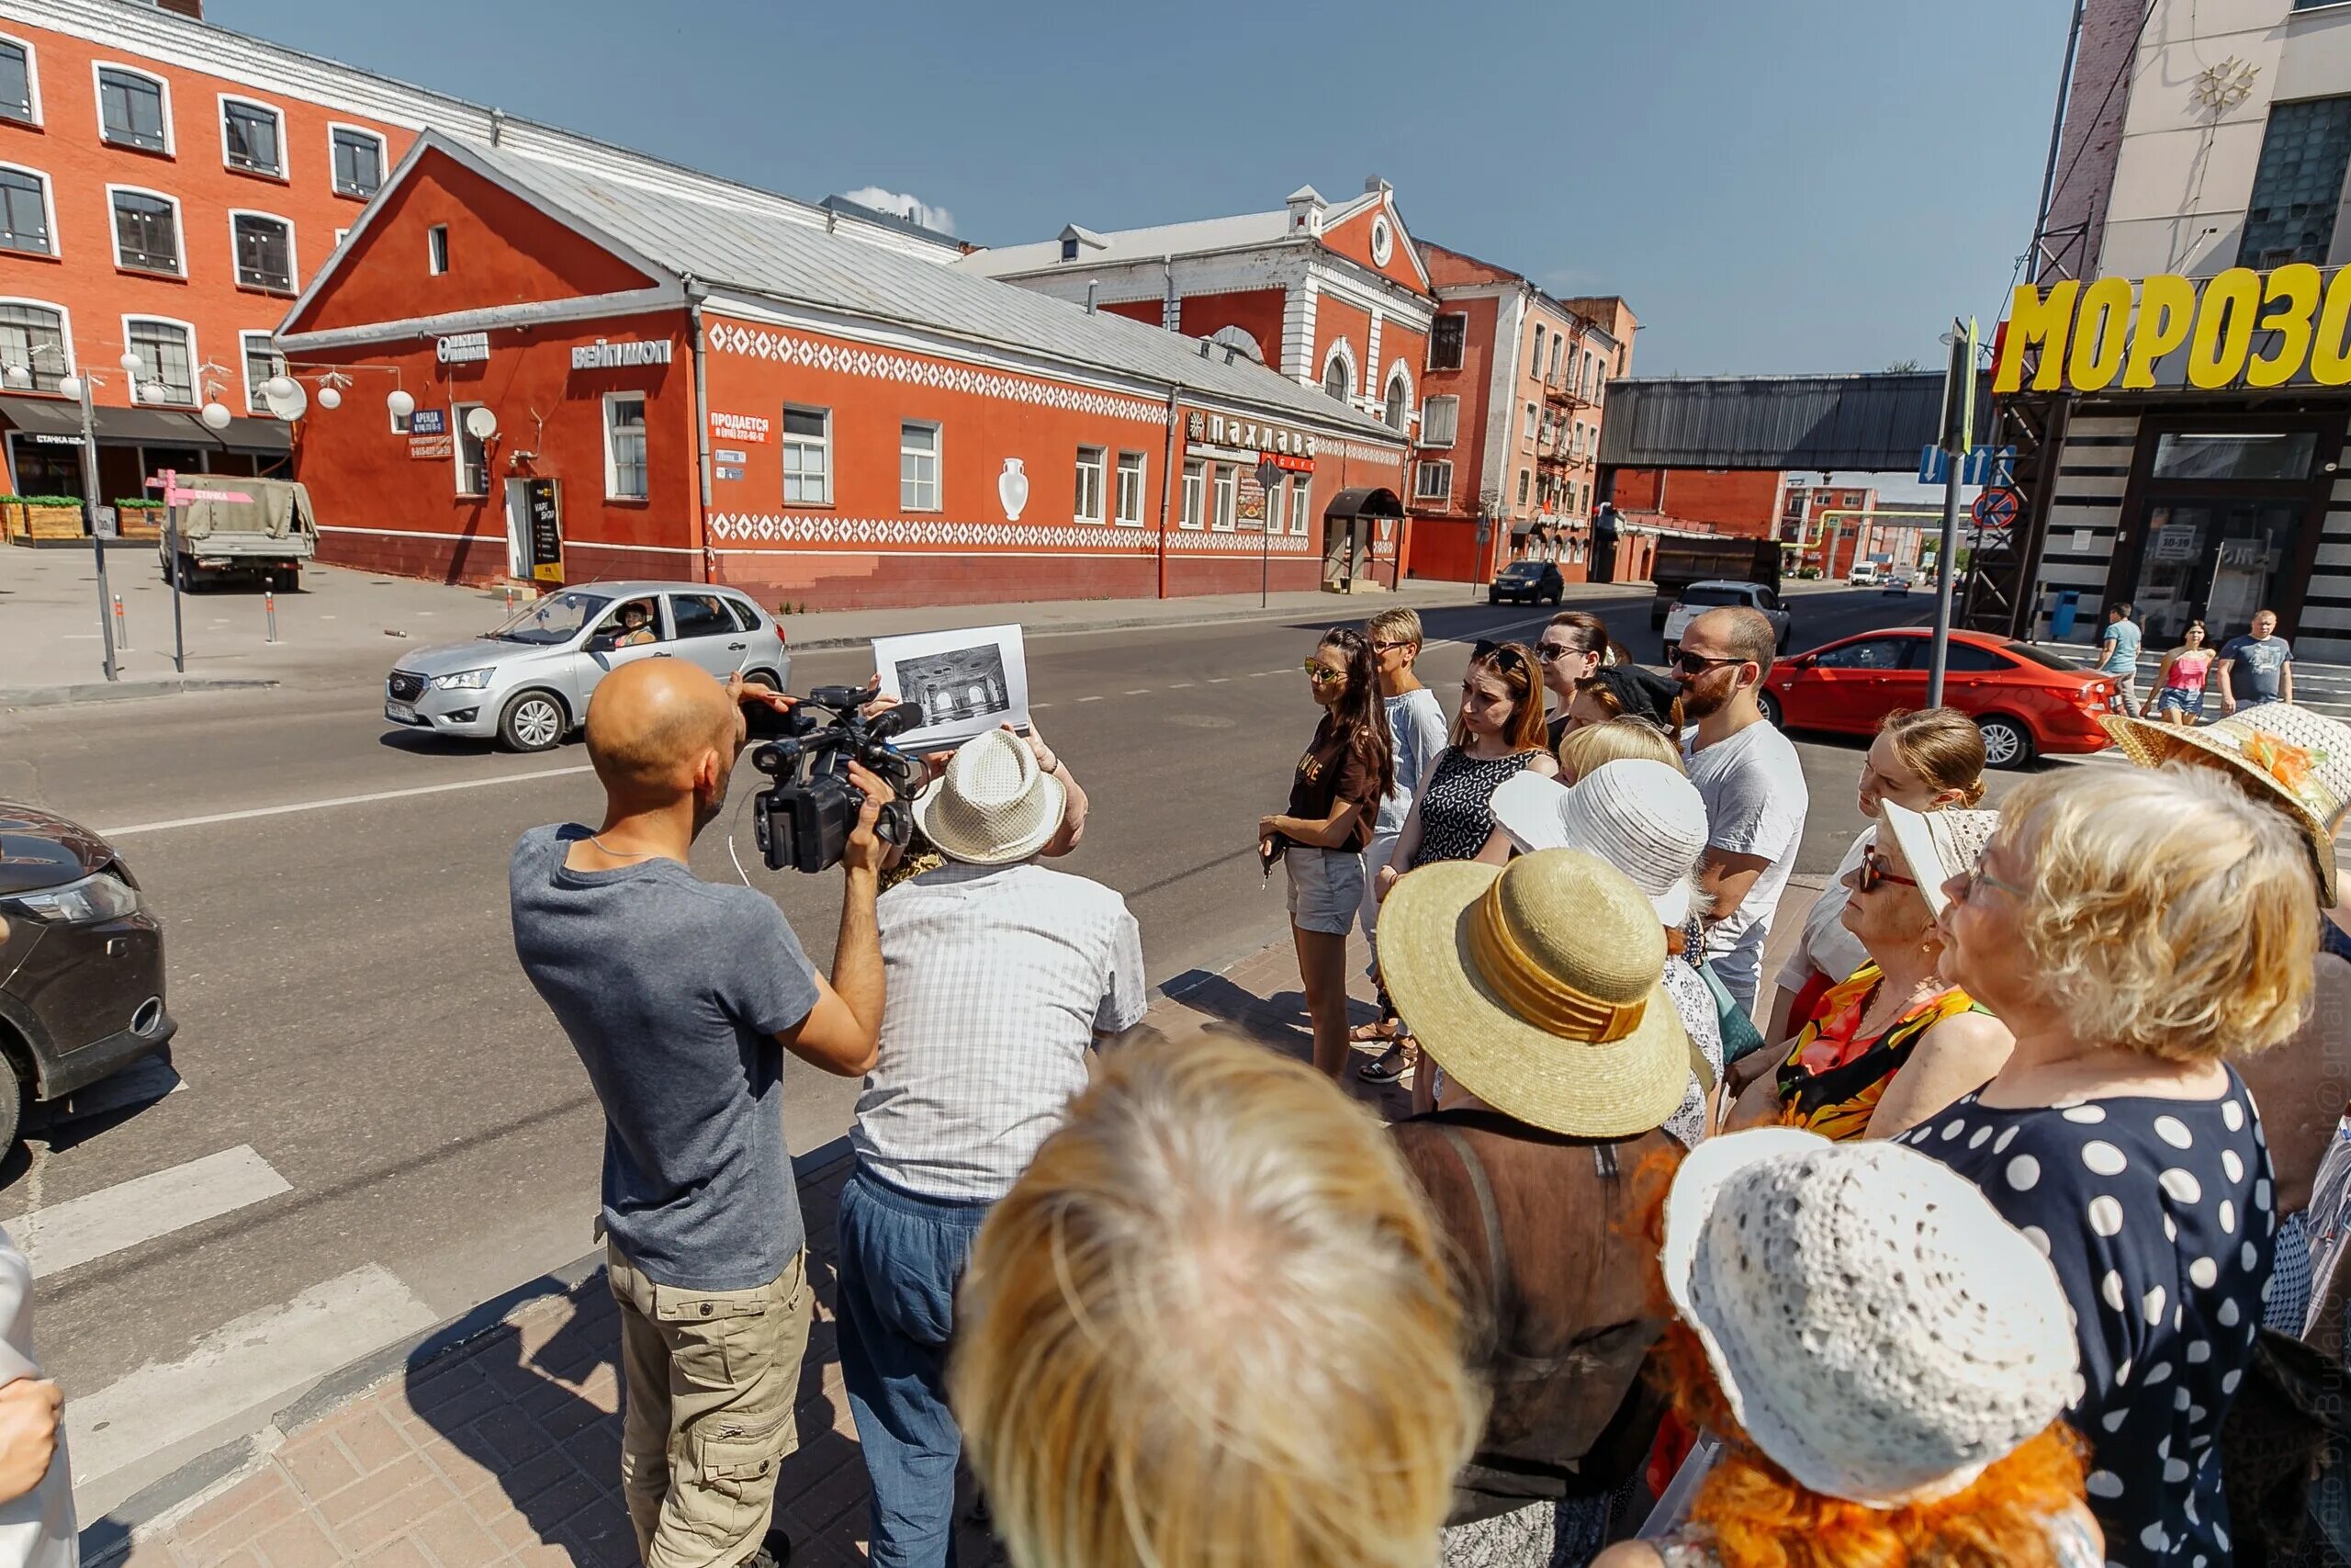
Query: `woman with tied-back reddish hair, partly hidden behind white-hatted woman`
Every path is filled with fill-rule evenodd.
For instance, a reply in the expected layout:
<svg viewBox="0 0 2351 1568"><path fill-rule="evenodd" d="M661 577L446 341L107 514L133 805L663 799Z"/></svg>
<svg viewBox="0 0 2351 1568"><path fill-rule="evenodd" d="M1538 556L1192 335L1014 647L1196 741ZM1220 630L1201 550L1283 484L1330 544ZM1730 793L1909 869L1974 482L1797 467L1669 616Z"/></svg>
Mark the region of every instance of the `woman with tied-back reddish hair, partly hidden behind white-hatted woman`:
<svg viewBox="0 0 2351 1568"><path fill-rule="evenodd" d="M1763 1030L1768 1044L1787 1044L1813 1016L1822 992L1869 961L1862 940L1846 929L1843 914L1848 879L1876 849L1876 823L1886 802L1911 811L1944 811L1975 806L1980 799L1984 799L1984 731L1975 726L1975 719L1956 708L1886 715L1876 741L1869 743L1869 755L1862 757L1862 778L1855 792L1855 806L1869 820L1846 846L1846 858L1838 860L1829 886L1803 912L1803 936L1780 969L1770 1023Z"/></svg>

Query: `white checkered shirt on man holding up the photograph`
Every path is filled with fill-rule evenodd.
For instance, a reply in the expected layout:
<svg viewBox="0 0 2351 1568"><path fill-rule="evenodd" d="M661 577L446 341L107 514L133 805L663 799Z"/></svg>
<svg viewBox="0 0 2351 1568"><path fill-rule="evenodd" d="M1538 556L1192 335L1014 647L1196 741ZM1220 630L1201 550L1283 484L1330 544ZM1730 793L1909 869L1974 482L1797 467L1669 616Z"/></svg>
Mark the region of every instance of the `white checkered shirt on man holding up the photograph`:
<svg viewBox="0 0 2351 1568"><path fill-rule="evenodd" d="M1086 1086L1096 1032L1143 1020L1126 900L1041 865L943 865L882 896L882 1058L849 1143L917 1197L997 1199Z"/></svg>

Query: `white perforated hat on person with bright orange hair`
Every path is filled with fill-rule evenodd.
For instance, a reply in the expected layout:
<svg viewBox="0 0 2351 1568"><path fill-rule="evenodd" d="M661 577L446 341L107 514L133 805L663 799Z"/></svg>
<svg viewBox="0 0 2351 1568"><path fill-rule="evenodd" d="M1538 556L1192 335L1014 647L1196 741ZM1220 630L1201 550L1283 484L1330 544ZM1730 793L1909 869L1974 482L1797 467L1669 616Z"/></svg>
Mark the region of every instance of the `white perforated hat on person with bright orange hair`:
<svg viewBox="0 0 2351 1568"><path fill-rule="evenodd" d="M1660 1262L1747 1436L1829 1497L1965 1490L2074 1396L2050 1260L1975 1182L1895 1143L1700 1143Z"/></svg>

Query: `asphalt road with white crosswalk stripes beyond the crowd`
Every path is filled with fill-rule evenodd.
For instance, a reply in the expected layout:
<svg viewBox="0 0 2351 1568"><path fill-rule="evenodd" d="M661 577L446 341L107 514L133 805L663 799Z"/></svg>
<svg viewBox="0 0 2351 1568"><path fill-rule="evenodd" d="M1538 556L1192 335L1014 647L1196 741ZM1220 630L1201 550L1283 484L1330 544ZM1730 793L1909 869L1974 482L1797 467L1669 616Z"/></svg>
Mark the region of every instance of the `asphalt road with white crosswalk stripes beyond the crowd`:
<svg viewBox="0 0 2351 1568"><path fill-rule="evenodd" d="M1643 592L1580 602L1657 656ZM1799 592L1794 609L1801 649L1923 621L1928 599ZM1545 614L1434 611L1432 635L1455 642L1422 675L1451 710L1467 639L1531 642ZM1251 830L1314 719L1298 675L1312 630L1030 642L1037 722L1093 797L1067 865L1126 893L1154 983L1286 931ZM795 684L868 672L863 654L804 654ZM85 1519L317 1373L592 1246L602 1119L505 919L515 835L597 816L585 755L386 733L379 708L379 677L348 677L0 715L0 797L115 835L165 922L181 1025L176 1093L35 1131L0 1166L12 1232L87 1232L61 1253L87 1260L45 1267L38 1302L42 1359L82 1422ZM1799 870L1827 872L1860 823L1860 748L1803 755ZM757 783L738 771L696 870L734 877L734 835L823 966L839 884L755 863ZM792 1063L792 1147L842 1133L853 1088Z"/></svg>

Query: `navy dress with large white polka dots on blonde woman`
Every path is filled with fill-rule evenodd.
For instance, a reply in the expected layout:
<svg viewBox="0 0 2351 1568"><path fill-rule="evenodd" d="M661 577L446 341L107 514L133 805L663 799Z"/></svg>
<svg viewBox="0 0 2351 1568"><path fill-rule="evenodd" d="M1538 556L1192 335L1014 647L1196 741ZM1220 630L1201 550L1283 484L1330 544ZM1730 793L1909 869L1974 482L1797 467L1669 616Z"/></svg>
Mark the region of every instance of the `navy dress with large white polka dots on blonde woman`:
<svg viewBox="0 0 2351 1568"><path fill-rule="evenodd" d="M2219 1420L2252 1359L2278 1215L2245 1084L2217 1100L1991 1110L1968 1095L1902 1143L1982 1187L2057 1265L2081 1335L2067 1420L2125 1568L2224 1568Z"/></svg>

